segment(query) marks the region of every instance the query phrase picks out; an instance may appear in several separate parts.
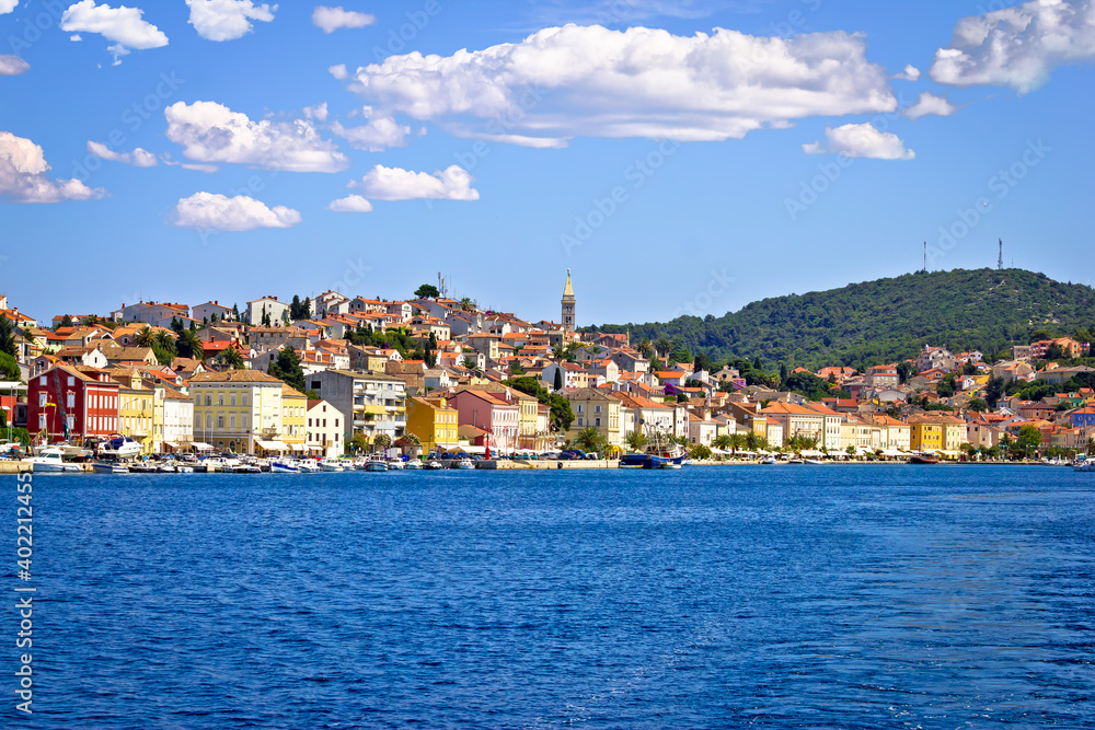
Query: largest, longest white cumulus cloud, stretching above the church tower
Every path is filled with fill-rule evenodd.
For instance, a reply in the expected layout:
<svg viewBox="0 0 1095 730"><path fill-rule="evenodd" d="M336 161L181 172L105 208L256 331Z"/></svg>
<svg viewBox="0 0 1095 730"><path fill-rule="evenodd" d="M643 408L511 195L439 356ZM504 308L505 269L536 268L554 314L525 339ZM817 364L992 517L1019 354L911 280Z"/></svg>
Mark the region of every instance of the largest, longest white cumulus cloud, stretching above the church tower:
<svg viewBox="0 0 1095 730"><path fill-rule="evenodd" d="M677 36L567 25L448 57L391 56L358 68L349 88L383 116L511 143L725 140L804 117L892 112L887 73L865 54L861 36L842 32Z"/></svg>

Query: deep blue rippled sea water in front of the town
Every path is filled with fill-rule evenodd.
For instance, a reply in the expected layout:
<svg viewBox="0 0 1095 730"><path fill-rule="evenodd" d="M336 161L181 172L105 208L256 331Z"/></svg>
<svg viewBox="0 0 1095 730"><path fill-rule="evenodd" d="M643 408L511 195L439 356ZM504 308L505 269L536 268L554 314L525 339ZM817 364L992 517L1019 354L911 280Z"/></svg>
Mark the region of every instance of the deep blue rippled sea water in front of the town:
<svg viewBox="0 0 1095 730"><path fill-rule="evenodd" d="M8 727L1095 727L1091 474L41 476L34 495L35 715L4 670Z"/></svg>

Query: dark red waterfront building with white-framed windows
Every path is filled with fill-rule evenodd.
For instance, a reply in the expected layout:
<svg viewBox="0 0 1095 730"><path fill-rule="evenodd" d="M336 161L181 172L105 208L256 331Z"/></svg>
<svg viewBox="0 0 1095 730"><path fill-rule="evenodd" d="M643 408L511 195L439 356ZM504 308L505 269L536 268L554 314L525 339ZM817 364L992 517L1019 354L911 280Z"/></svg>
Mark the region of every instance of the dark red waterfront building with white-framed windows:
<svg viewBox="0 0 1095 730"><path fill-rule="evenodd" d="M118 389L103 370L58 364L31 379L26 428L50 441L117 433Z"/></svg>

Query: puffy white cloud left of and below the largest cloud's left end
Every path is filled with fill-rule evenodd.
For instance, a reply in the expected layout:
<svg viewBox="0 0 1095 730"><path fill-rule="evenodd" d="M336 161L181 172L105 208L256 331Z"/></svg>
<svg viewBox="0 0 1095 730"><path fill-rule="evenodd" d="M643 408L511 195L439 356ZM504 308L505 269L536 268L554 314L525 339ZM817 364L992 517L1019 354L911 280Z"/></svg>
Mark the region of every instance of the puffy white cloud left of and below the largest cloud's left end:
<svg viewBox="0 0 1095 730"><path fill-rule="evenodd" d="M339 172L349 160L311 121L252 121L216 102L176 102L163 111L168 139L196 162L232 162L289 172Z"/></svg>

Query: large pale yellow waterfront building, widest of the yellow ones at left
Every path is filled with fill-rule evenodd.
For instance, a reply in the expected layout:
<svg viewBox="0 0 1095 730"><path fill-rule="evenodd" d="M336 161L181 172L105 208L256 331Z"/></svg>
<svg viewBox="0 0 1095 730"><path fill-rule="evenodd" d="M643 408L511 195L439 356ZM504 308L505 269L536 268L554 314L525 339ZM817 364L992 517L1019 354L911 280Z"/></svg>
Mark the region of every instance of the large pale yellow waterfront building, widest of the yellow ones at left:
<svg viewBox="0 0 1095 730"><path fill-rule="evenodd" d="M203 372L191 379L194 439L219 451L287 451L281 441L281 387L257 370Z"/></svg>

